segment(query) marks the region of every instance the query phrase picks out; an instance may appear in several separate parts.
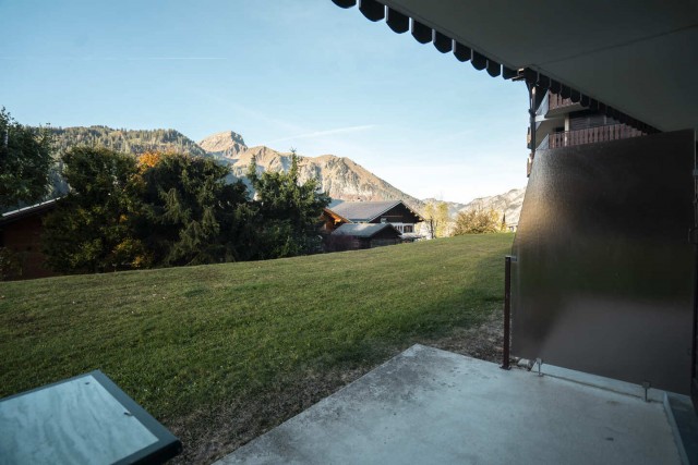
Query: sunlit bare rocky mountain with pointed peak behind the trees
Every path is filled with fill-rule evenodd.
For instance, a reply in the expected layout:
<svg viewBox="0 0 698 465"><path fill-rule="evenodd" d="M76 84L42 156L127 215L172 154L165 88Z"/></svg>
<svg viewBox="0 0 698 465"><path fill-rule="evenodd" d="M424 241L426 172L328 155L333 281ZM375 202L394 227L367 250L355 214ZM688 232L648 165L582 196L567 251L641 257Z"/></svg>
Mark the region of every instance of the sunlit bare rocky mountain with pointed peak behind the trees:
<svg viewBox="0 0 698 465"><path fill-rule="evenodd" d="M287 171L291 166L291 154L269 147L248 147L239 134L231 131L213 134L198 143L208 156L228 163L236 178L244 178L255 157L257 170ZM346 157L323 155L298 157L300 180L316 178L322 189L333 199L339 200L402 200L421 210L423 203L388 184L359 163Z"/></svg>

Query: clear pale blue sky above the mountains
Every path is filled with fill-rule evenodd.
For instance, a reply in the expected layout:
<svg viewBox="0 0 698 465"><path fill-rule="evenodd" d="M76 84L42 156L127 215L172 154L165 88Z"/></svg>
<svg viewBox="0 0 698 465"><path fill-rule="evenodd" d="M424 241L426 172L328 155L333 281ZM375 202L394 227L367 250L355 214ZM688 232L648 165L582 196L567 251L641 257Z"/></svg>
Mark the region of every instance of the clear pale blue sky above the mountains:
<svg viewBox="0 0 698 465"><path fill-rule="evenodd" d="M23 124L232 130L349 157L413 196L526 184L527 93L329 0L0 0Z"/></svg>

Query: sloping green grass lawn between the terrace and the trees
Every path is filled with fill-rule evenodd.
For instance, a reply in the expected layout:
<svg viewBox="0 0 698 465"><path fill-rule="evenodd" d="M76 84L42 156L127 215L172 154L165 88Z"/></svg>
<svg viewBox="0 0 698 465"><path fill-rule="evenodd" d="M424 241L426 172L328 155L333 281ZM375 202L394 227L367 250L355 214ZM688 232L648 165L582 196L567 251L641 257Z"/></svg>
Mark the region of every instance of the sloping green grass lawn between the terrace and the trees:
<svg viewBox="0 0 698 465"><path fill-rule="evenodd" d="M0 283L0 397L100 369L206 462L500 309L513 237Z"/></svg>

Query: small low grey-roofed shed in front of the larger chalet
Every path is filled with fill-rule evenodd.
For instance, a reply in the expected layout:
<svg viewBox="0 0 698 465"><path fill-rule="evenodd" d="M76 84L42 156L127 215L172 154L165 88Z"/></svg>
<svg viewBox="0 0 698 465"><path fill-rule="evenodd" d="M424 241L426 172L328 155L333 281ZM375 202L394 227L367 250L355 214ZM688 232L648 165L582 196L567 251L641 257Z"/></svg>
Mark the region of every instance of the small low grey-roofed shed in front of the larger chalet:
<svg viewBox="0 0 698 465"><path fill-rule="evenodd" d="M401 242L400 232L390 223L347 223L329 236L332 252L374 248Z"/></svg>

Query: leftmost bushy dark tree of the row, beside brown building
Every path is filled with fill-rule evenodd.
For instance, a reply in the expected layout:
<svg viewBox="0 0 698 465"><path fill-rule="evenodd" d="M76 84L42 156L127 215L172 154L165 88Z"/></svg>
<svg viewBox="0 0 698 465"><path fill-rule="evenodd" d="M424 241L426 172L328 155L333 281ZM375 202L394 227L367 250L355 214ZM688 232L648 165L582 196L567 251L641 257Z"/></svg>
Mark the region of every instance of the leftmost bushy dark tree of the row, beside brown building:
<svg viewBox="0 0 698 465"><path fill-rule="evenodd" d="M72 148L61 159L71 191L44 223L48 266L62 272L147 267L134 230L142 215L135 159L93 147Z"/></svg>

